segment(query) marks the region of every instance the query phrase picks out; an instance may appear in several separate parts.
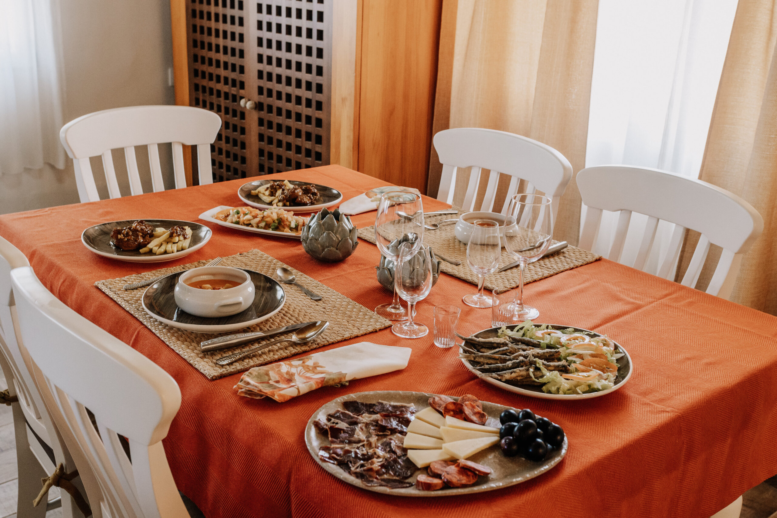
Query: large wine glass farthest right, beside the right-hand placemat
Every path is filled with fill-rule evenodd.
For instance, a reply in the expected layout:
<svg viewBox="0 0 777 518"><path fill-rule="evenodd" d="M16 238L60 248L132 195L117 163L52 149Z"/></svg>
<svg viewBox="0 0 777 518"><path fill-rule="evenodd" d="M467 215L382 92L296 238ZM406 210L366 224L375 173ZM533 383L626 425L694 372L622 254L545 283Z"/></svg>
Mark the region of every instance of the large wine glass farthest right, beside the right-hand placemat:
<svg viewBox="0 0 777 518"><path fill-rule="evenodd" d="M516 194L510 199L505 221L505 249L521 267L521 280L515 296L514 320L534 320L539 311L524 305L524 269L548 251L553 235L551 199L538 194Z"/></svg>

